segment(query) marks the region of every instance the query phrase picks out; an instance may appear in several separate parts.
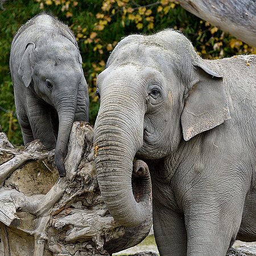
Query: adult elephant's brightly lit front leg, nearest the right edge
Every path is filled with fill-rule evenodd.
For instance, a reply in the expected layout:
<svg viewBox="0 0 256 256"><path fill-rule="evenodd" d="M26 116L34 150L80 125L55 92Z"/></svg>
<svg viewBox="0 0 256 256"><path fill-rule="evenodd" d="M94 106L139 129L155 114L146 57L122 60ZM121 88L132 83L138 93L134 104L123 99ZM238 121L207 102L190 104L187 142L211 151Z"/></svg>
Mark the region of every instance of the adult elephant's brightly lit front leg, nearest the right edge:
<svg viewBox="0 0 256 256"><path fill-rule="evenodd" d="M226 204L222 205L225 193L222 194L222 199L221 196L210 199L210 195L206 194L204 198L195 196L197 203L187 205L185 209L187 255L225 256L230 243L236 239L241 224L243 201L239 200L238 195L234 195L239 197L237 200L234 196L227 196Z"/></svg>

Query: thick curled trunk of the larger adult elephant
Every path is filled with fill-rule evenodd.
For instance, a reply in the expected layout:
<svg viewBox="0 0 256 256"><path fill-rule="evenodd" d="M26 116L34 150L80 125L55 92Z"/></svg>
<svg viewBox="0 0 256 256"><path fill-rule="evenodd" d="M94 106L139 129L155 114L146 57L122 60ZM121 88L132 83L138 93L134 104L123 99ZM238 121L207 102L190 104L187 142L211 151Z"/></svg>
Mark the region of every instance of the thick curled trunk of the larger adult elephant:
<svg viewBox="0 0 256 256"><path fill-rule="evenodd" d="M147 165L140 160L133 164L143 142L143 123L137 126L130 123L133 117L119 114L120 111L110 109L98 114L94 164L101 195L112 216L122 225L138 226L151 213Z"/></svg>

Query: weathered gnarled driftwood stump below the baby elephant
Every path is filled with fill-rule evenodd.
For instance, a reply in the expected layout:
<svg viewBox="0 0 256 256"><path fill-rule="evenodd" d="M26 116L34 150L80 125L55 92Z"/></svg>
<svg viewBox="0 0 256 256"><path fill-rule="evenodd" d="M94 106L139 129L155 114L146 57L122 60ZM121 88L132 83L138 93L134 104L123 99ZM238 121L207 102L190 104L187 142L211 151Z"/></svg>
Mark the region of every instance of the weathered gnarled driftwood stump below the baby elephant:
<svg viewBox="0 0 256 256"><path fill-rule="evenodd" d="M147 236L151 214L143 225L125 228L106 209L89 123L73 125L65 178L53 156L39 141L15 149L0 133L0 255L109 255Z"/></svg>

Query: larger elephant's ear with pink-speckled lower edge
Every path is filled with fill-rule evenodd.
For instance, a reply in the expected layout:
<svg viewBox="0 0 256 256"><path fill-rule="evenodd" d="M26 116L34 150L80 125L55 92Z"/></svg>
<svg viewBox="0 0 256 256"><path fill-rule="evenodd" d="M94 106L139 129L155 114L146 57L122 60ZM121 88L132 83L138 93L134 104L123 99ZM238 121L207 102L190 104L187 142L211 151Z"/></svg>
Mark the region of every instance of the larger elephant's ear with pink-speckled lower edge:
<svg viewBox="0 0 256 256"><path fill-rule="evenodd" d="M185 141L230 118L222 76L201 64L193 65L197 69L198 79L188 92L181 114Z"/></svg>

